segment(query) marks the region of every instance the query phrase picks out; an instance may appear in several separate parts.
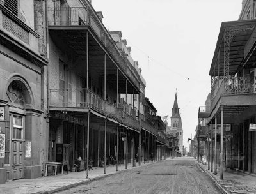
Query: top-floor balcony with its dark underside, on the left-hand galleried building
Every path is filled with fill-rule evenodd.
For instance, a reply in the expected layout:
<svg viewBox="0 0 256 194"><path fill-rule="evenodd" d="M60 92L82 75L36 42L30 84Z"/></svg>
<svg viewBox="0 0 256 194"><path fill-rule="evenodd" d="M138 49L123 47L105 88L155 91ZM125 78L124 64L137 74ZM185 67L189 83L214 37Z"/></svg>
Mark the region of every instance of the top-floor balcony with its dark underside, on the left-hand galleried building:
<svg viewBox="0 0 256 194"><path fill-rule="evenodd" d="M63 47L61 44L66 42L65 47L70 47L78 56L86 54L86 33L84 32L89 31L89 55L93 53L93 56L89 57L91 60L89 63L93 63L92 60L99 63L99 56L104 55L100 46L103 45L104 50L108 53L107 57L111 58L106 59L107 63L111 63L108 61L112 60L118 64L137 91L140 91L140 76L134 66L128 63L127 57L120 52L118 45L111 38L92 5L88 4L85 8L48 8L48 26L49 33L54 37L56 43L60 44L59 47ZM58 33L54 31L58 31ZM67 37L69 38L67 39Z"/></svg>

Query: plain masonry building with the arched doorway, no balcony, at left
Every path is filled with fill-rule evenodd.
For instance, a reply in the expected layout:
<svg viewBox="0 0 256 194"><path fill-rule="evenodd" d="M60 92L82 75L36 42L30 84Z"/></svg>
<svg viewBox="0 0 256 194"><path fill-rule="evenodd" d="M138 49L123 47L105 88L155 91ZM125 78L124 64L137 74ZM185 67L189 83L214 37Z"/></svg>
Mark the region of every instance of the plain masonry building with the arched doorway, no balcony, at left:
<svg viewBox="0 0 256 194"><path fill-rule="evenodd" d="M37 6L0 1L0 184L41 177L47 153L48 61Z"/></svg>

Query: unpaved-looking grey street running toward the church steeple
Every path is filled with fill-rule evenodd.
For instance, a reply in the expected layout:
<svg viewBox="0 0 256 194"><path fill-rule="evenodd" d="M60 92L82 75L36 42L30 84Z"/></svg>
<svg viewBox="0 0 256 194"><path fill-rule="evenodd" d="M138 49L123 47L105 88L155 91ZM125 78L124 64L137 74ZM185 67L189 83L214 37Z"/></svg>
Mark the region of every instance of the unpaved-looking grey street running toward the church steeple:
<svg viewBox="0 0 256 194"><path fill-rule="evenodd" d="M220 193L193 158L168 158L58 193Z"/></svg>

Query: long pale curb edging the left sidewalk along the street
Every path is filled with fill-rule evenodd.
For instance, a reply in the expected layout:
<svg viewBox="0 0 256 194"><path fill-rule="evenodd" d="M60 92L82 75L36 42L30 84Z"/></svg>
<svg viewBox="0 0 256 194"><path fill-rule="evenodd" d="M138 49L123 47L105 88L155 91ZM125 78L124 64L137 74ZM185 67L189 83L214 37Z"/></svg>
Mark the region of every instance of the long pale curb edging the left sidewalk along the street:
<svg viewBox="0 0 256 194"><path fill-rule="evenodd" d="M161 161L163 161L163 160L161 160ZM159 162L159 161L155 161L154 163L157 163L157 162ZM93 177L93 178L88 178L88 179L86 179L86 180L84 180L84 181L81 181L81 182L79 182L79 183L72 183L72 184L68 184L68 185L66 185L66 186L61 186L60 188L56 188L56 189L53 189L53 190L51 190L51 191L39 191L39 192L36 192L36 193L34 193L34 194L52 194L52 193L56 193L56 192L58 192L58 191L67 190L67 189L70 189L70 188L72 188L72 187L75 187L75 186L79 186L79 185L81 185L81 184L84 184L84 183L90 183L90 181L99 180L99 179L102 179L102 178L104 178L104 177L108 177L108 176L111 176L111 175L114 175L114 174L119 174L119 173L125 172L125 171L127 171L127 170L132 170L132 169L134 169L134 168L139 168L139 167L143 167L143 166L150 165L150 164L153 164L153 163L145 163L145 164L143 164L143 165L136 166L136 167L133 167L133 168L131 168L131 169L118 170L117 172L115 171L115 172L112 172L112 173L109 173L109 174L98 175L98 176Z"/></svg>

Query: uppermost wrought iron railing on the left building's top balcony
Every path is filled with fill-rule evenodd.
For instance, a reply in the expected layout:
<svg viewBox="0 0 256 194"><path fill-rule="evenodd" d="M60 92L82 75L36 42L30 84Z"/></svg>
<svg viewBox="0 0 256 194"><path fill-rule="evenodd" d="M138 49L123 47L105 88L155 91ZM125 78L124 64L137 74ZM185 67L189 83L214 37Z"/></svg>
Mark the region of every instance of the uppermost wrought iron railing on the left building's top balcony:
<svg viewBox="0 0 256 194"><path fill-rule="evenodd" d="M88 5L86 8L48 8L48 24L49 26L90 26L120 68L131 78L134 85L138 89L140 88L140 76L136 73L134 66L127 63L127 59L121 54L115 41L91 6Z"/></svg>

